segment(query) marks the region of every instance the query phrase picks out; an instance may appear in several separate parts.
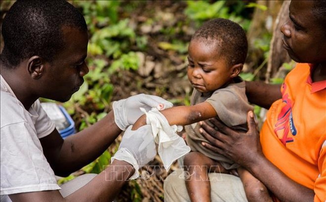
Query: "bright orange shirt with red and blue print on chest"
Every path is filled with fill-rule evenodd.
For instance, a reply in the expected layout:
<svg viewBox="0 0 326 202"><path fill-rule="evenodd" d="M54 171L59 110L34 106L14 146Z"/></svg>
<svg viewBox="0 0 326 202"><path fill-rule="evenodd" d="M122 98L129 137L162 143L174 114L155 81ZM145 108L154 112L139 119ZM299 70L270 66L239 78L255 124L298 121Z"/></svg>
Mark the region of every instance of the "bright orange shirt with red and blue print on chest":
<svg viewBox="0 0 326 202"><path fill-rule="evenodd" d="M312 82L308 64L285 77L260 133L264 155L295 182L326 201L326 80Z"/></svg>

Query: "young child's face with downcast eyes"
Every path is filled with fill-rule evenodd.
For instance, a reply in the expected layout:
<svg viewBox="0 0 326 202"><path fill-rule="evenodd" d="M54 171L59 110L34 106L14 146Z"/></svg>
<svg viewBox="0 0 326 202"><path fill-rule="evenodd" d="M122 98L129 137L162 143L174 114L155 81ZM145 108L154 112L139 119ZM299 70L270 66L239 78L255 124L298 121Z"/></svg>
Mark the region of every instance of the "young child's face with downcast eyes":
<svg viewBox="0 0 326 202"><path fill-rule="evenodd" d="M188 78L196 90L202 93L214 91L230 81L231 68L220 57L215 44L194 39L188 53Z"/></svg>

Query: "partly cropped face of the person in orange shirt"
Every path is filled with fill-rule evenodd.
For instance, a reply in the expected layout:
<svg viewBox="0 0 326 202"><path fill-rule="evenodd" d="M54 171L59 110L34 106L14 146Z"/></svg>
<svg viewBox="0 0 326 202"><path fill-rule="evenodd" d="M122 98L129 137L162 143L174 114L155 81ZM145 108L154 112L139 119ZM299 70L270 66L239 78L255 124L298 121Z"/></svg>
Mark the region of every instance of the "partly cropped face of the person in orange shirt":
<svg viewBox="0 0 326 202"><path fill-rule="evenodd" d="M281 27L284 48L299 63L326 61L326 34L321 23L313 15L314 1L292 0L289 19Z"/></svg>

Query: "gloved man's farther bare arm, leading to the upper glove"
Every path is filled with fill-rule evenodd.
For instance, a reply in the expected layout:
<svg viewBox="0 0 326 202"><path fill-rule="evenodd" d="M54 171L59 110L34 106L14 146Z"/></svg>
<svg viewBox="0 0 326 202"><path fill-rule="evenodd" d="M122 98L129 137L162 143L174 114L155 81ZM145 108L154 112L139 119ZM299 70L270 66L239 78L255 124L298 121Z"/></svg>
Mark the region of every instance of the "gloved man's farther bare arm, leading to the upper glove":
<svg viewBox="0 0 326 202"><path fill-rule="evenodd" d="M100 156L120 133L110 111L102 120L64 140L54 130L40 141L51 168L57 175L66 176Z"/></svg>

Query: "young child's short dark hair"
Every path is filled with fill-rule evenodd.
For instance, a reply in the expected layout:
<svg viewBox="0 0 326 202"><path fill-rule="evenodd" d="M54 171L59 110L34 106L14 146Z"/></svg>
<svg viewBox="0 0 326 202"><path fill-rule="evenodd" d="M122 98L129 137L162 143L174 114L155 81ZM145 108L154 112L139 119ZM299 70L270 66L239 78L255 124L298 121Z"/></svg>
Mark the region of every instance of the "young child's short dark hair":
<svg viewBox="0 0 326 202"><path fill-rule="evenodd" d="M194 39L204 39L207 44L214 42L229 65L244 64L248 42L239 24L223 18L209 20L195 32L191 40Z"/></svg>

